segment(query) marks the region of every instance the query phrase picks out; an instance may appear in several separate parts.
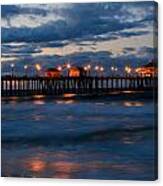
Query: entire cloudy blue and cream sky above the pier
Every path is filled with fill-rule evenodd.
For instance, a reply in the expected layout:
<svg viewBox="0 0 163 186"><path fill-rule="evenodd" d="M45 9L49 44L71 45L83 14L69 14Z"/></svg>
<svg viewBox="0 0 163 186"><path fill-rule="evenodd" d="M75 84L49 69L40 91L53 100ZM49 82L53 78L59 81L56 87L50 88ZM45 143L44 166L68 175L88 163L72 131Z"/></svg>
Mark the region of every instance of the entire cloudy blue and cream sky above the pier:
<svg viewBox="0 0 163 186"><path fill-rule="evenodd" d="M133 67L156 59L157 4L147 2L1 6L2 72L39 63Z"/></svg>

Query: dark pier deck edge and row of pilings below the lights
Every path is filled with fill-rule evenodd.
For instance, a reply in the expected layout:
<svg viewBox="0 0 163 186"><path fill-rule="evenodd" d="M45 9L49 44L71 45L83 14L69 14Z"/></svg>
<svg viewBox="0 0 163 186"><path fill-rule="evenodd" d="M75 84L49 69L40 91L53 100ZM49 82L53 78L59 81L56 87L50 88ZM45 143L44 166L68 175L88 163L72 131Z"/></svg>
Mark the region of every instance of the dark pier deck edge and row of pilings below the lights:
<svg viewBox="0 0 163 186"><path fill-rule="evenodd" d="M96 94L155 88L157 77L1 77L2 96Z"/></svg>

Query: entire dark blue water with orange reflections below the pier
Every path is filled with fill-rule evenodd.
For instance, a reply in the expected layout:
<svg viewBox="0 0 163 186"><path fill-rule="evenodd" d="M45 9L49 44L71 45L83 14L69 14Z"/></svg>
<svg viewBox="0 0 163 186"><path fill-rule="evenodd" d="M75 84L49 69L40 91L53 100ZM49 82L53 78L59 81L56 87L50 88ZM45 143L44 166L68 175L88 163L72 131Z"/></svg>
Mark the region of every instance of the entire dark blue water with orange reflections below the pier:
<svg viewBox="0 0 163 186"><path fill-rule="evenodd" d="M156 179L156 105L115 95L2 99L2 176Z"/></svg>

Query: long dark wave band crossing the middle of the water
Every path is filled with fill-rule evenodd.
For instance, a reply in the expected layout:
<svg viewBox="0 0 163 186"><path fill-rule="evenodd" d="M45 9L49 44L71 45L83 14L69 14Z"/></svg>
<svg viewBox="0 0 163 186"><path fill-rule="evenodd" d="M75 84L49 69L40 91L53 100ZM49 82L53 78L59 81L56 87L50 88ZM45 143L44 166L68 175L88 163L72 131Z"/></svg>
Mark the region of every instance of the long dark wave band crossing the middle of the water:
<svg viewBox="0 0 163 186"><path fill-rule="evenodd" d="M118 140L123 136L135 136L139 133L144 132L155 132L157 133L156 126L148 127L136 127L136 128L122 128L122 129L104 129L98 131L92 131L87 133L77 133L77 134L45 134L45 135L35 135L35 136L13 136L6 137L2 134L2 148L6 146L20 146L20 145L30 145L30 146L51 146L51 145L66 145L66 144L80 144L92 141L105 141L105 140Z"/></svg>

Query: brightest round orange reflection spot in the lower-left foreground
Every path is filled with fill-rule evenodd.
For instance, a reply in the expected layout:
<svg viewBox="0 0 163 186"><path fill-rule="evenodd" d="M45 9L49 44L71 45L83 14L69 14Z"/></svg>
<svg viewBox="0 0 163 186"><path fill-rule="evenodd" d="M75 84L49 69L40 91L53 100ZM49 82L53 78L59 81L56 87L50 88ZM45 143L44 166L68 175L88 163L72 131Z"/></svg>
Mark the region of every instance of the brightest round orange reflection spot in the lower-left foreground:
<svg viewBox="0 0 163 186"><path fill-rule="evenodd" d="M33 172L41 172L45 169L46 164L42 160L33 159L33 160L29 160L29 162L27 162L27 167L29 170L31 170Z"/></svg>

